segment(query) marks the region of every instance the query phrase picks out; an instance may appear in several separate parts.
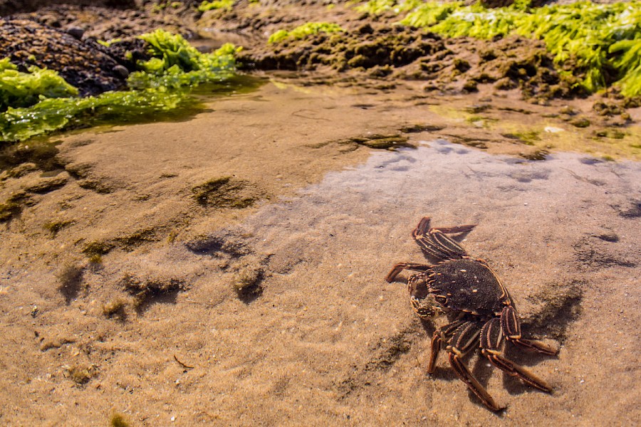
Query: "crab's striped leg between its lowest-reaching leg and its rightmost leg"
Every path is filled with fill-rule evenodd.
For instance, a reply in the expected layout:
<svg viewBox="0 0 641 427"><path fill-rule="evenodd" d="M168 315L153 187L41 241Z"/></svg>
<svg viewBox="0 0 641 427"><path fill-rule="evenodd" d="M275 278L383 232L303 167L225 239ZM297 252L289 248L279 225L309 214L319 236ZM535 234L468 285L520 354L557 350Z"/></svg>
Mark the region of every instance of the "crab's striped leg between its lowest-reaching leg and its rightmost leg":
<svg viewBox="0 0 641 427"><path fill-rule="evenodd" d="M522 367L519 364L512 362L510 359L501 354L501 342L504 339L503 327L501 327L501 320L499 317L487 322L481 328L481 354L486 357L491 364L506 372L511 376L516 376L521 381L535 387L536 389L547 391L550 393L552 387L543 379L539 378L529 369Z"/></svg>

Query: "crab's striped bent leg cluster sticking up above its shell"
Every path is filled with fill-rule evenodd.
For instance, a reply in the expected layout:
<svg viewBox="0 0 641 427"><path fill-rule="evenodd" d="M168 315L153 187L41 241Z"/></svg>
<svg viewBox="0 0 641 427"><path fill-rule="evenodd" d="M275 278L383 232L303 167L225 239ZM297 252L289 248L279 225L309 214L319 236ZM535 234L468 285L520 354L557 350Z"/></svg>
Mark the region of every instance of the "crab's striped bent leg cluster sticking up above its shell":
<svg viewBox="0 0 641 427"><path fill-rule="evenodd" d="M425 216L412 232L412 237L425 253L442 260L461 259L468 256L467 251L446 234L464 233L476 226L428 227L429 216Z"/></svg>

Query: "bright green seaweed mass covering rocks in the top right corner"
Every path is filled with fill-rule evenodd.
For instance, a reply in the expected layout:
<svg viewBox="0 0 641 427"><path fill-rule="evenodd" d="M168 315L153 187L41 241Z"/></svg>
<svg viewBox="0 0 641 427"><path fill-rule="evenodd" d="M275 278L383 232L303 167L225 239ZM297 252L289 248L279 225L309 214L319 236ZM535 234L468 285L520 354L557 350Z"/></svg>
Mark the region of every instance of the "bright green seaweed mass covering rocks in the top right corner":
<svg viewBox="0 0 641 427"><path fill-rule="evenodd" d="M516 34L544 41L558 68L570 68L585 90L613 83L623 95L641 95L641 1L578 1L530 8L528 2L486 9L462 2L429 1L400 23L448 37L490 39Z"/></svg>

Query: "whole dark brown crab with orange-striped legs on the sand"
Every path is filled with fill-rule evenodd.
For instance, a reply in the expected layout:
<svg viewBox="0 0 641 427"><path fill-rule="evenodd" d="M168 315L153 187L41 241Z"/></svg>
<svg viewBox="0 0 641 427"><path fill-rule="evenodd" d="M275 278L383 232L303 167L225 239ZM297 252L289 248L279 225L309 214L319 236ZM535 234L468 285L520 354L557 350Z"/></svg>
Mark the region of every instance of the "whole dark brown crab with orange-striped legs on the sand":
<svg viewBox="0 0 641 427"><path fill-rule="evenodd" d="M419 317L432 319L447 314L449 324L434 331L432 352L427 371L434 372L439 351L444 347L449 364L469 389L492 411L503 406L496 404L484 386L464 364L466 354L481 349L489 362L516 376L529 386L551 393L552 387L529 369L507 359L501 352L507 340L521 349L555 355L556 348L521 335L521 321L510 295L485 260L471 259L459 243L447 234L471 231L474 225L428 228L429 217L424 217L412 233L426 255L440 260L436 265L398 263L387 274L392 283L402 270L418 272L407 280L410 302Z"/></svg>

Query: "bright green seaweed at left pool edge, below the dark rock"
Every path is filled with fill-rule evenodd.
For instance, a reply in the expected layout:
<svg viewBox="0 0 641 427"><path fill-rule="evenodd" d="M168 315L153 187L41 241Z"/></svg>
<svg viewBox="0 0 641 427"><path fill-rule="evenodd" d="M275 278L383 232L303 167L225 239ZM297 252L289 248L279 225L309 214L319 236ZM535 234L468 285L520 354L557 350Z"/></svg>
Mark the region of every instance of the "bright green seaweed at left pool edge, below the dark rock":
<svg viewBox="0 0 641 427"><path fill-rule="evenodd" d="M25 105L24 100L17 102L6 96L10 103L6 111L0 113L0 141L21 141L56 130L100 122L153 120L157 115L192 107L196 103L189 96L192 88L222 83L234 76L234 55L239 48L229 43L212 53L200 53L182 36L167 31L157 30L140 37L149 43L153 57L139 61L140 71L131 73L127 80L130 90L75 97L77 90L57 73L30 69L32 77L28 81L46 78L49 83L33 83L33 105ZM0 64L9 62L3 60ZM15 71L10 65L6 65L6 70ZM22 76L22 80L27 79ZM11 90L19 93L20 88L16 83ZM0 97L3 93L0 92ZM26 100L28 96L20 99Z"/></svg>

